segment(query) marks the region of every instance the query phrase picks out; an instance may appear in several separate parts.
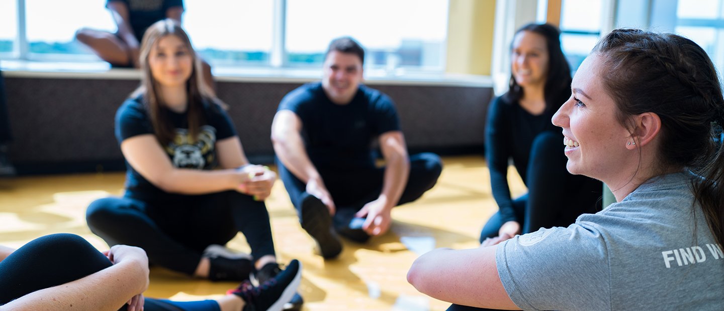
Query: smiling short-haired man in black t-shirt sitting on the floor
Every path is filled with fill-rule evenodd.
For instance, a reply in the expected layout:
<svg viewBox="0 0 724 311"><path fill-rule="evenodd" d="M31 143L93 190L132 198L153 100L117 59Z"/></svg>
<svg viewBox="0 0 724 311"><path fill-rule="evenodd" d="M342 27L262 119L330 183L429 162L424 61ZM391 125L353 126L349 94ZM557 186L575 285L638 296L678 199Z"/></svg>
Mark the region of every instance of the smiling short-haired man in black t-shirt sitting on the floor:
<svg viewBox="0 0 724 311"><path fill-rule="evenodd" d="M392 100L361 85L363 60L352 38L332 40L322 81L287 94L271 126L279 176L324 258L341 252L337 233L366 242L387 232L392 207L419 198L442 170L436 154L408 157Z"/></svg>

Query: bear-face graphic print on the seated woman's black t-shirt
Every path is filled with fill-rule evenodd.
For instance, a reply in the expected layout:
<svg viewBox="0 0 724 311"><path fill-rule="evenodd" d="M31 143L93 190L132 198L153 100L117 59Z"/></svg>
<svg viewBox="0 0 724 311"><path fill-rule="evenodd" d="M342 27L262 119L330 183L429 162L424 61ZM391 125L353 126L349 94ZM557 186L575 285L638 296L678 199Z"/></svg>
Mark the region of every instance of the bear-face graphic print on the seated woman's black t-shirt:
<svg viewBox="0 0 724 311"><path fill-rule="evenodd" d="M187 129L177 128L176 137L166 146L166 152L171 156L174 167L201 170L214 163L215 143L216 129L211 126L201 126L195 141Z"/></svg>

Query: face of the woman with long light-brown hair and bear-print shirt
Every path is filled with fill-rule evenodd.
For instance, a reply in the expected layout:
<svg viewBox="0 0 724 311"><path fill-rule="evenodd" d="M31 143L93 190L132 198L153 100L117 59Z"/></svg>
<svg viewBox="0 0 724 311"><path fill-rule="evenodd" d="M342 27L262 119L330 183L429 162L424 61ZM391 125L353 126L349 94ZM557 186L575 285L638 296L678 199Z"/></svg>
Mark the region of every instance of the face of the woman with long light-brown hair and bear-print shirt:
<svg viewBox="0 0 724 311"><path fill-rule="evenodd" d="M148 53L148 67L161 87L184 86L193 70L193 56L175 35L166 35Z"/></svg>

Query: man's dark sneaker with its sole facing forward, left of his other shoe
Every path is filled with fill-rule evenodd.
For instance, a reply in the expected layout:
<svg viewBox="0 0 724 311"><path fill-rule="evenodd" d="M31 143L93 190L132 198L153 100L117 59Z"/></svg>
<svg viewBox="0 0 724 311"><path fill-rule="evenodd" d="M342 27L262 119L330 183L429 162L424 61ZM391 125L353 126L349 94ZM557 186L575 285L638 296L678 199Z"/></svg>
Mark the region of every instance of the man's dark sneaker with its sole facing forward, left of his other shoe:
<svg viewBox="0 0 724 311"><path fill-rule="evenodd" d="M301 208L302 228L319 245L319 253L325 259L337 257L342 253L342 242L332 229L332 216L324 203L309 193L304 194Z"/></svg>

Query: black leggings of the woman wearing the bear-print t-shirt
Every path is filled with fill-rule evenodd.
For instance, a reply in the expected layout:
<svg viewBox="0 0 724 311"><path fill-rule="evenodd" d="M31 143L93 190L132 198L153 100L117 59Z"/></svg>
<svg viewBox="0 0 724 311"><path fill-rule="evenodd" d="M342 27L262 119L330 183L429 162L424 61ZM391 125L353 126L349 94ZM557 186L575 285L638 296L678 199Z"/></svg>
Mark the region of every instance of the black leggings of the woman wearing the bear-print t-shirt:
<svg viewBox="0 0 724 311"><path fill-rule="evenodd" d="M138 246L151 263L189 275L207 246L224 245L237 232L246 237L253 258L274 255L264 202L235 191L163 202L101 198L90 203L86 220L108 245Z"/></svg>

